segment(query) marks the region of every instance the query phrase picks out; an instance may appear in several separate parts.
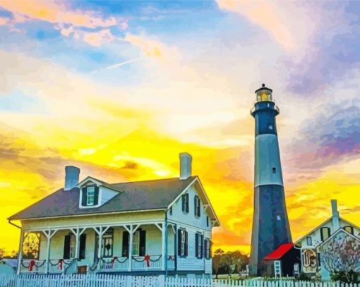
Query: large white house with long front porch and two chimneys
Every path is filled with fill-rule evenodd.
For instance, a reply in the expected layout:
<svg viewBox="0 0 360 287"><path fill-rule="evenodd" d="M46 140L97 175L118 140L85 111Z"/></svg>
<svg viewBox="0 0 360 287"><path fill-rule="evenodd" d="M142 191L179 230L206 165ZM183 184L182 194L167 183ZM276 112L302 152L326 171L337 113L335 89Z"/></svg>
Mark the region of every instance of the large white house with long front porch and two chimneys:
<svg viewBox="0 0 360 287"><path fill-rule="evenodd" d="M191 161L180 154L179 178L126 183L79 182L80 169L66 166L64 188L8 218L21 228L18 274L211 276L220 221Z"/></svg>

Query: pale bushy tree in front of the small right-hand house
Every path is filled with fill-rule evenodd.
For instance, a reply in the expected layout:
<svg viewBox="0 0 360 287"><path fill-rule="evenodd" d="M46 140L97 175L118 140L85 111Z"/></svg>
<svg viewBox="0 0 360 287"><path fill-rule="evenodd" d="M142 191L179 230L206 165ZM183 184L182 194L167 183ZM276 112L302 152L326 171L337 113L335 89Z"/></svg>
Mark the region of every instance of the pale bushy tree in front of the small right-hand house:
<svg viewBox="0 0 360 287"><path fill-rule="evenodd" d="M356 283L360 274L359 240L339 232L320 251L325 269L333 280Z"/></svg>

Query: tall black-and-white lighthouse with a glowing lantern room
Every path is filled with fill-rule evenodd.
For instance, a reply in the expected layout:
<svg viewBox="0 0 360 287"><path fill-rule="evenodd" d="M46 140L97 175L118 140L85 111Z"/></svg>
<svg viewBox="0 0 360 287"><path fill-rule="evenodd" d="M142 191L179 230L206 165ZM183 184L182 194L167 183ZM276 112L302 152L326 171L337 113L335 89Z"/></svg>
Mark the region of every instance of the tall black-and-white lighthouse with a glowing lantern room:
<svg viewBox="0 0 360 287"><path fill-rule="evenodd" d="M292 236L277 140L276 116L280 109L265 84L255 94L256 103L251 109L255 118L255 177L250 273L261 276L266 273L263 258L280 245L291 243Z"/></svg>

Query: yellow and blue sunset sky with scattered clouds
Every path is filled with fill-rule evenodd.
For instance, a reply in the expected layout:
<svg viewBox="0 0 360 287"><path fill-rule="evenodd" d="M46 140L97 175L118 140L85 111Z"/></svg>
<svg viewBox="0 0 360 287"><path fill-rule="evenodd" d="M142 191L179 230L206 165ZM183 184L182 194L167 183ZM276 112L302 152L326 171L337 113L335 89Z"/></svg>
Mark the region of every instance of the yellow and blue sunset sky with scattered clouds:
<svg viewBox="0 0 360 287"><path fill-rule="evenodd" d="M0 0L0 248L7 217L64 185L179 176L193 156L221 227L249 251L254 91L277 128L294 240L360 225L359 1Z"/></svg>

